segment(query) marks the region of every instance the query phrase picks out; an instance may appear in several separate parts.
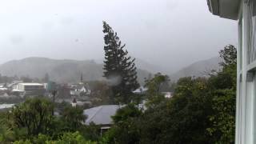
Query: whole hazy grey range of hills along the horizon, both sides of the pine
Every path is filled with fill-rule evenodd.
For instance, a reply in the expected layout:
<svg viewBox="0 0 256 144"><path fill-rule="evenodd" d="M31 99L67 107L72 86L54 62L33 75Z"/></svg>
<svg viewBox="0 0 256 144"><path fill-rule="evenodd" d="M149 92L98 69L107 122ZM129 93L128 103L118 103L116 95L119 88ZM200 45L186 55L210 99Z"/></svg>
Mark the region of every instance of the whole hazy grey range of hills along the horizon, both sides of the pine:
<svg viewBox="0 0 256 144"><path fill-rule="evenodd" d="M135 63L138 67L138 81L142 84L144 78L149 74L170 74L173 81L186 76L203 76L210 70L218 70L218 62L220 58L210 58L199 62L194 62L190 66L186 66L176 73L170 74L167 69L161 66L155 66L142 59L136 59ZM55 82L79 82L80 76L86 81L102 80L103 64L99 60L71 60L71 59L50 59L50 58L23 58L21 60L12 60L0 65L0 74L7 76L29 76L30 78L43 78L46 73L50 75L50 79Z"/></svg>

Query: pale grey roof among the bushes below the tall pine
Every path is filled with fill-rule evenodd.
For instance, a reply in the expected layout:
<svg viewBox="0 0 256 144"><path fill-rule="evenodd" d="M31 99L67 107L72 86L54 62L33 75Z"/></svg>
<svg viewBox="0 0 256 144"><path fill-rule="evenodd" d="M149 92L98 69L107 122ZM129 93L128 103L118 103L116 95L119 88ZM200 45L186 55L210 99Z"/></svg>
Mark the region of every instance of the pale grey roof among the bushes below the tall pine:
<svg viewBox="0 0 256 144"><path fill-rule="evenodd" d="M83 111L87 116L86 125L94 122L96 125L112 124L112 118L116 111L120 108L118 105L97 106Z"/></svg>

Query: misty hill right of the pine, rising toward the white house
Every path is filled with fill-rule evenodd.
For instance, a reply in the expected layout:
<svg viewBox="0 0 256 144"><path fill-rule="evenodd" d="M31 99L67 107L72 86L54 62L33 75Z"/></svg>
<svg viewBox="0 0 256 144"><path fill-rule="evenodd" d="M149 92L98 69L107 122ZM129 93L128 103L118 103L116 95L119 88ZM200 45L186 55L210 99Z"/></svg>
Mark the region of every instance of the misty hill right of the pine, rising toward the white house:
<svg viewBox="0 0 256 144"><path fill-rule="evenodd" d="M184 67L182 70L178 70L176 73L170 75L171 80L178 80L178 78L195 76L202 77L209 74L210 70L219 70L221 67L218 63L221 62L221 58L214 57L198 62L194 62L190 66Z"/></svg>

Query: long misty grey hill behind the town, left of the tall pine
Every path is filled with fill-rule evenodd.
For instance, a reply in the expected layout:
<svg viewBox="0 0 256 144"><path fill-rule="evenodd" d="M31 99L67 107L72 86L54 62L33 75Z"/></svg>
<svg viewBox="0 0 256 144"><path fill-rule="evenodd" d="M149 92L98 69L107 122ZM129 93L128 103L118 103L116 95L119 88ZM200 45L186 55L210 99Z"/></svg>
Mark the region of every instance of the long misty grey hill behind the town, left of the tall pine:
<svg viewBox="0 0 256 144"><path fill-rule="evenodd" d="M70 59L24 58L13 60L0 65L0 74L6 76L30 76L30 78L44 78L45 74L55 82L79 82L83 74L85 81L102 80L102 64L93 60L78 61ZM138 81L144 82L150 74L146 70L138 69Z"/></svg>

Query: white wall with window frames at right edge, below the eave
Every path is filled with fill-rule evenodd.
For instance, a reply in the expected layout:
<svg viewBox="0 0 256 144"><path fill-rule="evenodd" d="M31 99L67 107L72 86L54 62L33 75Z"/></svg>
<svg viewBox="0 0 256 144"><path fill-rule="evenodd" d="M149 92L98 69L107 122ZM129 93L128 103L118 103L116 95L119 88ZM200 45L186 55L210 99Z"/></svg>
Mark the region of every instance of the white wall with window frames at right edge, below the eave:
<svg viewBox="0 0 256 144"><path fill-rule="evenodd" d="M255 8L255 5L254 5ZM255 122L256 122L256 62L251 58L255 46L252 29L250 29L250 11L245 1L241 3L238 22L238 73L237 73L237 102L236 102L236 144L255 143ZM255 19L254 19L255 20ZM254 22L254 25L256 23ZM252 26L256 27L256 26ZM256 36L256 35L255 35ZM254 38L256 43L256 40ZM249 47L251 49L249 49Z"/></svg>

